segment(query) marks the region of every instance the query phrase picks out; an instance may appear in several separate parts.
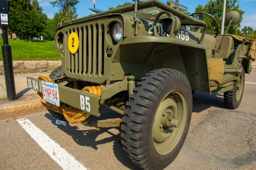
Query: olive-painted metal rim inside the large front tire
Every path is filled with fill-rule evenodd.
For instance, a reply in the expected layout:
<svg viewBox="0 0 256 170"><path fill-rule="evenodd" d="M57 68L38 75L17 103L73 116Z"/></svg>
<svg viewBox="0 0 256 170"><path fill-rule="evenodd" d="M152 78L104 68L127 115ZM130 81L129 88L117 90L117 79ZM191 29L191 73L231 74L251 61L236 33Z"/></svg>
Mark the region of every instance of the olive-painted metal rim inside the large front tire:
<svg viewBox="0 0 256 170"><path fill-rule="evenodd" d="M160 155L170 153L183 134L187 118L187 102L179 90L170 91L161 101L154 117L153 146Z"/></svg>

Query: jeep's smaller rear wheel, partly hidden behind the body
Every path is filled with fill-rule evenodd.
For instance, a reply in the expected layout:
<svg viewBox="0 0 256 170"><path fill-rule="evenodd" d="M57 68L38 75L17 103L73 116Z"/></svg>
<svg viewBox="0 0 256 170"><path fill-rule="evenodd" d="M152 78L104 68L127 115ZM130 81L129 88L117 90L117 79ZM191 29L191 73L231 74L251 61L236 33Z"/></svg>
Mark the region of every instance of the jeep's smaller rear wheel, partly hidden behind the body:
<svg viewBox="0 0 256 170"><path fill-rule="evenodd" d="M240 75L241 81L239 83L234 83L233 89L224 92L224 103L227 108L236 109L239 107L243 93L244 93L244 82L245 82L245 72L244 67L242 67L242 73ZM240 86L240 89L238 88Z"/></svg>

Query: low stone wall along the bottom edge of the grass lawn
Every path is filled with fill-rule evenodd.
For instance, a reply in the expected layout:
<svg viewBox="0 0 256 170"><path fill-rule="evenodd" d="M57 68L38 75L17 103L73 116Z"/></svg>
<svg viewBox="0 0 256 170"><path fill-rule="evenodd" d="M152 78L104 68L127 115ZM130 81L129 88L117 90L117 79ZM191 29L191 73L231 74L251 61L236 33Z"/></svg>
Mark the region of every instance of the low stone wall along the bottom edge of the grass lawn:
<svg viewBox="0 0 256 170"><path fill-rule="evenodd" d="M61 61L13 61L14 74L52 71L61 66ZM0 74L4 74L3 61L0 61Z"/></svg>

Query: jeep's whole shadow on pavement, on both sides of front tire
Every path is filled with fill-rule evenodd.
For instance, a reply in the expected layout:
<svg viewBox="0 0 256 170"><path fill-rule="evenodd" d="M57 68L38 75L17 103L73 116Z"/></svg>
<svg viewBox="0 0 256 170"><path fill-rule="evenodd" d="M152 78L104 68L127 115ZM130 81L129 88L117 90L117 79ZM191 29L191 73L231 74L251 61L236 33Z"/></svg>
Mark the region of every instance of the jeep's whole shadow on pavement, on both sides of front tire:
<svg viewBox="0 0 256 170"><path fill-rule="evenodd" d="M209 95L203 92L195 92L195 96L193 97L193 112L200 113L201 111L207 110L210 107L217 107L217 108L224 108L224 101L222 94L212 93ZM109 109L103 109L100 111L100 116L91 116L89 119L90 121L100 120L100 119L111 119L116 117L122 117L118 113L115 113ZM49 113L45 114L47 119L52 121L52 124L56 125L56 119ZM62 126L57 125L57 127L70 135L73 140L79 144L80 146L87 146L92 147L93 149L97 150L97 145L99 144L106 144L109 142L113 142L113 153L116 158L125 166L132 170L139 170L139 168L135 167L128 158L125 156L125 153L122 149L121 137L120 134L113 134L108 130L111 128L94 128L93 130L79 130L79 128L75 126ZM116 128L120 132L120 127ZM102 133L108 133L111 137L96 141L96 138L101 135Z"/></svg>

